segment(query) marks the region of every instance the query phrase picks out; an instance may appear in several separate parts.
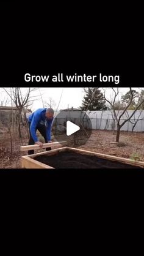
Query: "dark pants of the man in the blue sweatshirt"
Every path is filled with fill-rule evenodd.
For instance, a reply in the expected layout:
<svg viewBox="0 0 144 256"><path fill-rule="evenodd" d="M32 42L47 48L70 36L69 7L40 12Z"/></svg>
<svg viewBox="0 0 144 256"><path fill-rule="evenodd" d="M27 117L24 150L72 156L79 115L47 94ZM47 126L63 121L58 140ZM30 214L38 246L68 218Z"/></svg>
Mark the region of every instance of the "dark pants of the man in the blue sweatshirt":
<svg viewBox="0 0 144 256"><path fill-rule="evenodd" d="M29 122L28 124L29 124L29 145L34 145L35 141L32 138L31 130L30 130L31 122ZM41 124L38 124L38 126L35 129L35 133L37 132L37 130L40 132L40 134L45 139L45 143L48 143L48 140L46 138L46 127ZM46 148L46 151L49 151L49 150L51 150L51 148ZM28 154L29 155L34 154L34 150L29 150Z"/></svg>

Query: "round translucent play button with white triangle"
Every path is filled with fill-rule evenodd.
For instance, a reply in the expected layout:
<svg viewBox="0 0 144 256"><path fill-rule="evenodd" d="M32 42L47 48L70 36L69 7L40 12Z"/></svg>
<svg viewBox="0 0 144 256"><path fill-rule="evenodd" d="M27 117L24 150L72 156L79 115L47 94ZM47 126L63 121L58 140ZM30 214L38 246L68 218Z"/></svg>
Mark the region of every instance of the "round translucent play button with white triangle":
<svg viewBox="0 0 144 256"><path fill-rule="evenodd" d="M67 141L72 148L85 145L92 134L92 122L86 111L77 108L60 110L52 122L52 141Z"/></svg>

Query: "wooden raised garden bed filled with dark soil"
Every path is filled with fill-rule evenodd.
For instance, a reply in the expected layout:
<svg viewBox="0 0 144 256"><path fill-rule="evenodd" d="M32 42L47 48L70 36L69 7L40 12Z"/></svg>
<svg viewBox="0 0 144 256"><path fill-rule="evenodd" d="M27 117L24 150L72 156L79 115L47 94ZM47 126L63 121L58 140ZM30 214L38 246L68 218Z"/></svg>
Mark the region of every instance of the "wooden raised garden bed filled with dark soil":
<svg viewBox="0 0 144 256"><path fill-rule="evenodd" d="M144 168L144 162L82 149L62 148L21 157L22 168Z"/></svg>

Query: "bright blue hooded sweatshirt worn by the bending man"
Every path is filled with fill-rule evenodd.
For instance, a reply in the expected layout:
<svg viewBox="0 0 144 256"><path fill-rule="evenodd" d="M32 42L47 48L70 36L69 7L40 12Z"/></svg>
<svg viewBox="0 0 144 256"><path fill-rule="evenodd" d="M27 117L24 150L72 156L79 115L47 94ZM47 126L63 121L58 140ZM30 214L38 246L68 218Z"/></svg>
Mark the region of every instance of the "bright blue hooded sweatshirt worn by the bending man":
<svg viewBox="0 0 144 256"><path fill-rule="evenodd" d="M28 122L31 122L31 126L30 126L31 135L35 142L38 141L37 134L36 134L36 127L38 126L38 124L42 124L46 126L46 138L48 141L51 140L51 124L52 124L53 118L51 119L46 118L45 116L46 109L47 108L38 108L38 110L33 112L28 118Z"/></svg>

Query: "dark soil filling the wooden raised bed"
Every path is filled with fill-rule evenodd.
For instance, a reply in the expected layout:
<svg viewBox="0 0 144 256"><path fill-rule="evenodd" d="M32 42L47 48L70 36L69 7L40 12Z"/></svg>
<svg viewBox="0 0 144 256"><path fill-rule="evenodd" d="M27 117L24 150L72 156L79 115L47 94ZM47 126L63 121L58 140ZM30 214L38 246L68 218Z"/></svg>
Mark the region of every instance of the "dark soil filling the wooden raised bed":
<svg viewBox="0 0 144 256"><path fill-rule="evenodd" d="M34 159L54 168L131 168L142 170L140 167L123 164L112 160L101 159L96 156L82 155L70 151L58 152L53 156L37 156L34 157Z"/></svg>

